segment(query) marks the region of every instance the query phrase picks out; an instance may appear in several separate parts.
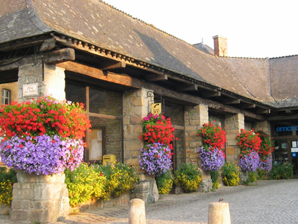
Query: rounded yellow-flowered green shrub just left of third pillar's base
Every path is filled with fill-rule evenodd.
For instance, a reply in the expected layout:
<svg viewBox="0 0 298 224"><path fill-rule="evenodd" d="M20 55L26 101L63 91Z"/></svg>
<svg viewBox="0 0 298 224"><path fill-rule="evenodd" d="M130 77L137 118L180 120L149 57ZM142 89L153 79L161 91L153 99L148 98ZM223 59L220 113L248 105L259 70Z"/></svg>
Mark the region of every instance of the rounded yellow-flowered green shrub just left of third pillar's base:
<svg viewBox="0 0 298 224"><path fill-rule="evenodd" d="M193 164L181 163L180 168L174 172L174 183L180 184L185 192L197 191L201 180L201 172Z"/></svg>

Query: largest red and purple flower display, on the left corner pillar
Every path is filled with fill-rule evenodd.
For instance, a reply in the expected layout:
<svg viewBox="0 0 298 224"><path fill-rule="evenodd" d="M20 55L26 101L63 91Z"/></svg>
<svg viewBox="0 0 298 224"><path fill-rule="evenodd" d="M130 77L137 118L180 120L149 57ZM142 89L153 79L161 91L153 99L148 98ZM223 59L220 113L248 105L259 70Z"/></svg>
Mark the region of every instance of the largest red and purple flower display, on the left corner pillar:
<svg viewBox="0 0 298 224"><path fill-rule="evenodd" d="M83 159L82 137L90 128L82 104L43 96L0 108L1 159L28 173L56 174L73 170Z"/></svg>

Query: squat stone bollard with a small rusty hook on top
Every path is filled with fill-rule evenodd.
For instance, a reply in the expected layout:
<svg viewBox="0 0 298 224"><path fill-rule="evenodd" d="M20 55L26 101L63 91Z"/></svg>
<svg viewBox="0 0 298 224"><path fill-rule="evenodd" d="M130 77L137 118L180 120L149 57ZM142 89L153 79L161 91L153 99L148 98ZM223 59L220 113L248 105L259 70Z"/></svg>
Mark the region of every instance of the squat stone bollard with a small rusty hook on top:
<svg viewBox="0 0 298 224"><path fill-rule="evenodd" d="M209 203L208 224L231 224L229 203L227 202Z"/></svg>

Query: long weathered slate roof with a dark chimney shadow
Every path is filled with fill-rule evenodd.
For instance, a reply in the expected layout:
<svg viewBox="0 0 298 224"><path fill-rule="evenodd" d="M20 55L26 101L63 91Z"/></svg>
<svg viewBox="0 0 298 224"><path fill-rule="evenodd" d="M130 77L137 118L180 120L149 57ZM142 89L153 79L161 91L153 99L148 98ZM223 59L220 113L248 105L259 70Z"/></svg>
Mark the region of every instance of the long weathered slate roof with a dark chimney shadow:
<svg viewBox="0 0 298 224"><path fill-rule="evenodd" d="M297 95L297 90L290 95L287 92L281 93L283 90L280 90L280 83L273 80L288 72L287 67L284 67L284 70L278 68L279 65L287 64L283 60L218 58L134 19L102 1L0 2L0 43L51 31L212 84L264 104L285 107L288 104L283 103L283 100L287 99L287 102L291 102L290 105L298 106L298 100L292 98ZM298 59L294 57L291 60L293 62L288 64L295 70L295 62L298 63ZM271 79L269 67L276 71ZM290 80L295 78L293 75L294 71L286 74ZM277 100L272 96L277 97Z"/></svg>

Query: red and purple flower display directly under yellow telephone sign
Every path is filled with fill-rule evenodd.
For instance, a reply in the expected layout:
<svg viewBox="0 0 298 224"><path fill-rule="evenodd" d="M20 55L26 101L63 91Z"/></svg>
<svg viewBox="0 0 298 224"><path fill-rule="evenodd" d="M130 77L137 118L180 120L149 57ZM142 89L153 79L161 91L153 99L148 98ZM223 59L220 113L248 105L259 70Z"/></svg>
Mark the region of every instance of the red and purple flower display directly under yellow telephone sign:
<svg viewBox="0 0 298 224"><path fill-rule="evenodd" d="M143 132L139 138L145 142L141 148L141 168L151 174L163 174L171 167L174 130L171 119L162 114L149 113L142 119Z"/></svg>

